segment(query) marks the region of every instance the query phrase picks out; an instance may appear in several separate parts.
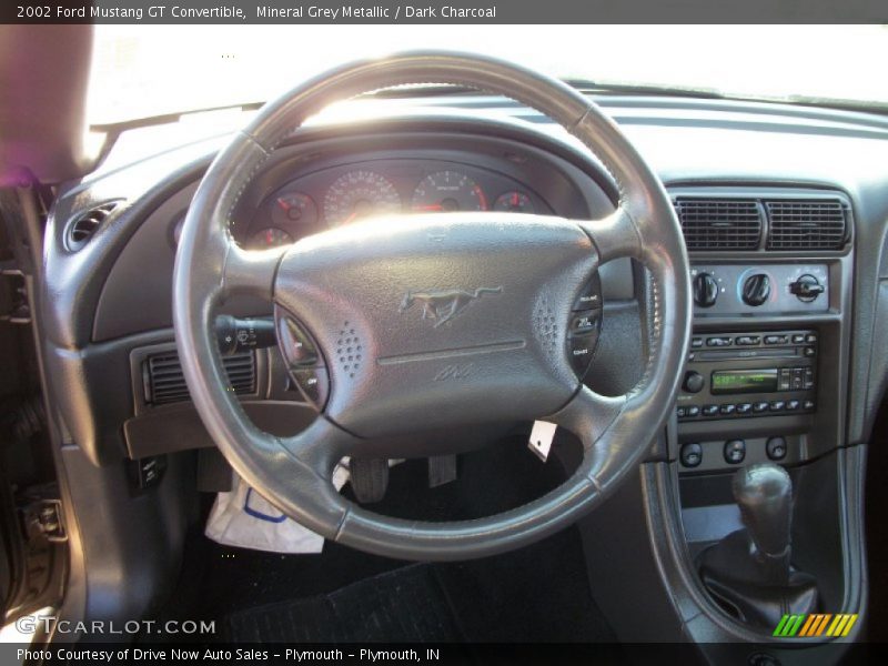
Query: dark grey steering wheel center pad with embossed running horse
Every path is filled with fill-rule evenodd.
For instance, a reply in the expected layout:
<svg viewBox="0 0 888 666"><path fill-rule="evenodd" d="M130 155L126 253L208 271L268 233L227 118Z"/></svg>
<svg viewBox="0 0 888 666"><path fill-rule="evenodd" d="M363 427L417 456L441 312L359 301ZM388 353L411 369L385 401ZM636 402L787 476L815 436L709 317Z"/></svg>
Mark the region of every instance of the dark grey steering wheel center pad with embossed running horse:
<svg viewBox="0 0 888 666"><path fill-rule="evenodd" d="M596 268L558 218L386 218L296 243L274 300L319 347L327 416L379 437L557 411L579 384L567 329Z"/></svg>

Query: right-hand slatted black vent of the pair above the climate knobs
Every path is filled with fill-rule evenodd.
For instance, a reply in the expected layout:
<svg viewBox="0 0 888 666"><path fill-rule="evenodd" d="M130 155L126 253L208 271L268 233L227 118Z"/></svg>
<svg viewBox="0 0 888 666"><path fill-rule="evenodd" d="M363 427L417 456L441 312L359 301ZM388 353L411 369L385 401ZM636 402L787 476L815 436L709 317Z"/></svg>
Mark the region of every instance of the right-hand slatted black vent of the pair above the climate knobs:
<svg viewBox="0 0 888 666"><path fill-rule="evenodd" d="M768 250L839 250L847 239L848 209L838 199L766 201Z"/></svg>

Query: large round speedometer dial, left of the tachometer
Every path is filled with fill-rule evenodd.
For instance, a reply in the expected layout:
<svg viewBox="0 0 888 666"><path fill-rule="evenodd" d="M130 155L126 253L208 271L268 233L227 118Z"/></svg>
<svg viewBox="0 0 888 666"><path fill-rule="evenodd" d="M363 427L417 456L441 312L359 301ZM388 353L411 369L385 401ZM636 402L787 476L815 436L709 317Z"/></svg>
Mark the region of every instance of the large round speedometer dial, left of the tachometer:
<svg viewBox="0 0 888 666"><path fill-rule="evenodd" d="M350 171L330 185L324 196L324 218L331 226L371 215L401 212L395 186L374 171Z"/></svg>

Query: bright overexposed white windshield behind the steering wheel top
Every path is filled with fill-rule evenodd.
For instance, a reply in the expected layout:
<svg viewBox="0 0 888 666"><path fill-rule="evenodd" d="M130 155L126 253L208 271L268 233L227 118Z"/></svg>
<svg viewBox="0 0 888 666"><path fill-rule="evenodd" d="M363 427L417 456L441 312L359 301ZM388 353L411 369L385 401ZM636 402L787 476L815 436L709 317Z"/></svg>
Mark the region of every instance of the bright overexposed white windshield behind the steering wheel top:
<svg viewBox="0 0 888 666"><path fill-rule="evenodd" d="M886 26L97 26L89 121L261 102L351 59L427 48L602 85L888 108Z"/></svg>

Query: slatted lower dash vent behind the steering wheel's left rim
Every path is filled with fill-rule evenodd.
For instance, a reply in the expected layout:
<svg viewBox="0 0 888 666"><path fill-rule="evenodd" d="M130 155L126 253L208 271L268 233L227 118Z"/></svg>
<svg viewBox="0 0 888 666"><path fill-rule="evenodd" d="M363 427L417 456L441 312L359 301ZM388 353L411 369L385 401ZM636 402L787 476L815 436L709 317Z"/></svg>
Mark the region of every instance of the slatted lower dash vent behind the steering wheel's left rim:
<svg viewBox="0 0 888 666"><path fill-rule="evenodd" d="M250 394L256 391L256 363L253 352L241 352L223 356L222 364L234 393ZM152 405L191 400L175 352L154 354L144 362L145 402Z"/></svg>

